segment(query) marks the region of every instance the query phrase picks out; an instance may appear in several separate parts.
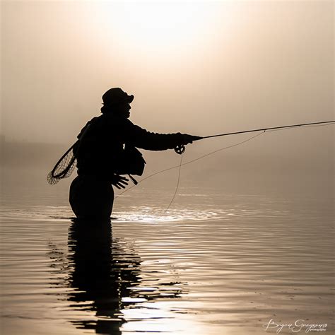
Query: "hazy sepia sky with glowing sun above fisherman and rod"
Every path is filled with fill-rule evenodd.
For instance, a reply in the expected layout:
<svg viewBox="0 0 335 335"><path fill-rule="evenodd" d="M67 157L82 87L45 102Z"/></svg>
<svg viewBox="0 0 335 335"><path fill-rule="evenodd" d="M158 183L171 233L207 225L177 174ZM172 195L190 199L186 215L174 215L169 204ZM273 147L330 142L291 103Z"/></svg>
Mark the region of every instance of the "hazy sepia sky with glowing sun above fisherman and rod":
<svg viewBox="0 0 335 335"><path fill-rule="evenodd" d="M147 26L155 43L139 6L157 13ZM177 16L186 5L3 1L1 134L71 144L111 87L135 95L131 120L150 131L206 136L334 119L333 1L191 3L184 22L171 18L172 36L168 24L155 27L164 6ZM268 134L252 150L331 154L333 128Z"/></svg>

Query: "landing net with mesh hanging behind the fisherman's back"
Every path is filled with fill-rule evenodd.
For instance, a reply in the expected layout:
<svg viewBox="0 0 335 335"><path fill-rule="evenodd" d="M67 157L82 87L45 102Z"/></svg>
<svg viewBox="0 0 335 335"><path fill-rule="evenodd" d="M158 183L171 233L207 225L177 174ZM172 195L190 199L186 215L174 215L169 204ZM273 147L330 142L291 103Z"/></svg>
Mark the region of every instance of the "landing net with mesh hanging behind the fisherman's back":
<svg viewBox="0 0 335 335"><path fill-rule="evenodd" d="M61 159L54 165L54 168L47 175L47 182L49 184L57 184L59 180L68 178L76 168L76 156L74 155L74 146L76 143L69 148Z"/></svg>

